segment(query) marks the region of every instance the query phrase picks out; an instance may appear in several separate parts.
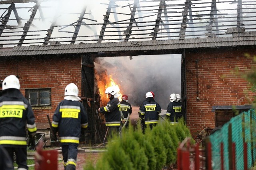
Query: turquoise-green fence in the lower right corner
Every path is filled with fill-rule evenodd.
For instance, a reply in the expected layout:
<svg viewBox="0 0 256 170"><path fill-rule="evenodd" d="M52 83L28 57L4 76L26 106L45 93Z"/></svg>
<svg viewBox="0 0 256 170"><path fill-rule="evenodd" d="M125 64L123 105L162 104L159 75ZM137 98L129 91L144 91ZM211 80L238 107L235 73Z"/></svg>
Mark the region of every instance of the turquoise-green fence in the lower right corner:
<svg viewBox="0 0 256 170"><path fill-rule="evenodd" d="M225 123L220 131L209 136L212 144L212 170L244 170L244 153L247 153L247 168L251 168L256 158L256 115L250 109ZM221 159L221 143L223 143L223 159ZM232 145L235 145L235 149ZM244 143L247 152L244 152ZM235 159L232 159L235 150ZM223 166L221 162L223 161ZM235 162L235 168L233 164Z"/></svg>

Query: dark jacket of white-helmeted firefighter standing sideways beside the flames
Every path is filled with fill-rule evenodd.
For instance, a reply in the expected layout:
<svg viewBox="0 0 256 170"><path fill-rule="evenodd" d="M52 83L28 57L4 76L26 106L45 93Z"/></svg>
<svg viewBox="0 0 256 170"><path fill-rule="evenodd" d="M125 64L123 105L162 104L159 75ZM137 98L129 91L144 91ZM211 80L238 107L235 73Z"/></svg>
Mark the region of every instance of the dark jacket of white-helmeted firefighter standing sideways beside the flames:
<svg viewBox="0 0 256 170"><path fill-rule="evenodd" d="M106 126L120 126L121 113L119 110L120 102L118 98L112 98L107 106L100 107L100 113L104 113Z"/></svg>

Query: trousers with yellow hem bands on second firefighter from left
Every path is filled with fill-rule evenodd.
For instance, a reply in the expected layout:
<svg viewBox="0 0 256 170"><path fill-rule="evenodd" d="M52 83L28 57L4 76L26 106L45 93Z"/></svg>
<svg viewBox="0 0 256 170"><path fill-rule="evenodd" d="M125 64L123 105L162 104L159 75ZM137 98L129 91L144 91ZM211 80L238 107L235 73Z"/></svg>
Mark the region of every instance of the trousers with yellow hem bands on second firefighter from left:
<svg viewBox="0 0 256 170"><path fill-rule="evenodd" d="M75 170L78 143L69 143L67 145L62 144L61 147L64 170Z"/></svg>

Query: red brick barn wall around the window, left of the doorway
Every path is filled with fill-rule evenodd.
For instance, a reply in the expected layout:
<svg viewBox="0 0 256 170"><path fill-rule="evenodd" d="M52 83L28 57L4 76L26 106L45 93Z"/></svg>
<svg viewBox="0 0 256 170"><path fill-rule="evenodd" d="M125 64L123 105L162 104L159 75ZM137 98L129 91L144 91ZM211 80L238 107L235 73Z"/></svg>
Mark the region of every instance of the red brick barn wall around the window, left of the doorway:
<svg viewBox="0 0 256 170"><path fill-rule="evenodd" d="M1 59L0 80L10 74L20 76L23 95L25 89L51 88L52 106L33 107L36 123L47 123L46 115L52 117L58 103L64 99L66 85L74 83L81 89L81 55Z"/></svg>

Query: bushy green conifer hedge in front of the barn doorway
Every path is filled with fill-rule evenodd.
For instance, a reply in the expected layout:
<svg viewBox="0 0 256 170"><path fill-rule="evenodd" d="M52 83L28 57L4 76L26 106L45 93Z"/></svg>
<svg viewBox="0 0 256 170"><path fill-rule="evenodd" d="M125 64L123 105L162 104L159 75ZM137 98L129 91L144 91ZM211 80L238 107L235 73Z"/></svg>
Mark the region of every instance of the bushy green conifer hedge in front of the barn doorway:
<svg viewBox="0 0 256 170"><path fill-rule="evenodd" d="M146 128L145 133L140 125L130 125L123 129L122 137L108 142L107 152L96 165L89 161L84 170L162 170L176 163L177 147L186 137L191 134L183 120L177 125L162 121L152 130Z"/></svg>

